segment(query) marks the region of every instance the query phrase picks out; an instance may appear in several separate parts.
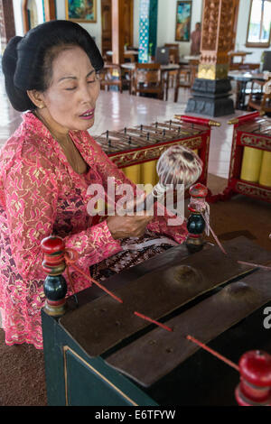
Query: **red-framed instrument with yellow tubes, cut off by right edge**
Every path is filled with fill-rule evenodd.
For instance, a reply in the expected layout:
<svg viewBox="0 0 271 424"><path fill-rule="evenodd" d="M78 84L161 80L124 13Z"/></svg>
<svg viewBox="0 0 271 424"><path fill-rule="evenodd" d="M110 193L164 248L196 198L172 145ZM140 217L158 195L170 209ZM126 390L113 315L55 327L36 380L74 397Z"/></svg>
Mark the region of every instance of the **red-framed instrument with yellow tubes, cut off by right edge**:
<svg viewBox="0 0 271 424"><path fill-rule="evenodd" d="M234 130L228 187L209 201L240 193L271 202L271 119L252 112L229 124L234 124Z"/></svg>

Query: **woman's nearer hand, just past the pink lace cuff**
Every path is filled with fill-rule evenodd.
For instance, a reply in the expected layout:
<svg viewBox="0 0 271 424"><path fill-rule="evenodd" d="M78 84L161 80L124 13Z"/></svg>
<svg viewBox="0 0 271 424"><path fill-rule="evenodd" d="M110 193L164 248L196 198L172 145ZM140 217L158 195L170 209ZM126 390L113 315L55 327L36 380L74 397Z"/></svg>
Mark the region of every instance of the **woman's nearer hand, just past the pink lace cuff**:
<svg viewBox="0 0 271 424"><path fill-rule="evenodd" d="M125 237L140 237L145 233L145 227L153 219L150 215L133 217L107 217L108 229L115 240Z"/></svg>

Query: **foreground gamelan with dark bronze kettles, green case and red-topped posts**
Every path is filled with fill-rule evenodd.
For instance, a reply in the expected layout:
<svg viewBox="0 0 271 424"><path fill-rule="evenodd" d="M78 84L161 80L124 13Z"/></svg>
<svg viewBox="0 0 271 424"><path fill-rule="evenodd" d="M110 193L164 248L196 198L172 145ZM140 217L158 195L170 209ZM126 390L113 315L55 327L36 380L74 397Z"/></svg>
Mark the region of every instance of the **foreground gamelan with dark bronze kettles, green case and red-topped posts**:
<svg viewBox="0 0 271 424"><path fill-rule="evenodd" d="M192 215L206 192L192 188ZM270 406L271 253L243 236L223 249L174 246L93 281L76 303L59 278L75 266L69 250L44 239L48 404Z"/></svg>

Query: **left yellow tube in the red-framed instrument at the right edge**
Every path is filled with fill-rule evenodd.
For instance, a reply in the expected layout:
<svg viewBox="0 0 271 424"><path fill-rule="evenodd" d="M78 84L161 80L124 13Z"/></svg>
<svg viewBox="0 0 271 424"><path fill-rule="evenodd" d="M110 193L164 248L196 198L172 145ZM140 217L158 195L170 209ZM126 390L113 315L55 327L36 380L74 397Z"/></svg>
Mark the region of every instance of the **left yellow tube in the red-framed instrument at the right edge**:
<svg viewBox="0 0 271 424"><path fill-rule="evenodd" d="M244 147L241 166L241 180L258 182L263 151L254 147Z"/></svg>

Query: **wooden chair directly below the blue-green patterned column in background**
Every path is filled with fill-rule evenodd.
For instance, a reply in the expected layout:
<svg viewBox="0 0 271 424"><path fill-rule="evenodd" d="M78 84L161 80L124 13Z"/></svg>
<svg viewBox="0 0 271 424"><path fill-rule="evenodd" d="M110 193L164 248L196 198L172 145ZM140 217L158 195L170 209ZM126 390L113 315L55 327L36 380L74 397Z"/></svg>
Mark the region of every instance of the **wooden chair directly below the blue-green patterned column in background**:
<svg viewBox="0 0 271 424"><path fill-rule="evenodd" d="M164 80L160 63L135 63L133 73L132 94L137 96L151 95L164 99Z"/></svg>

